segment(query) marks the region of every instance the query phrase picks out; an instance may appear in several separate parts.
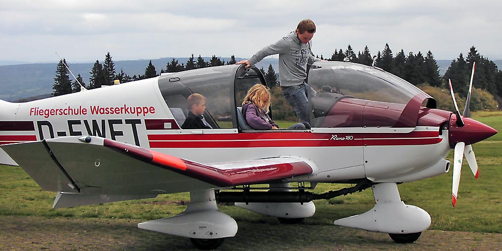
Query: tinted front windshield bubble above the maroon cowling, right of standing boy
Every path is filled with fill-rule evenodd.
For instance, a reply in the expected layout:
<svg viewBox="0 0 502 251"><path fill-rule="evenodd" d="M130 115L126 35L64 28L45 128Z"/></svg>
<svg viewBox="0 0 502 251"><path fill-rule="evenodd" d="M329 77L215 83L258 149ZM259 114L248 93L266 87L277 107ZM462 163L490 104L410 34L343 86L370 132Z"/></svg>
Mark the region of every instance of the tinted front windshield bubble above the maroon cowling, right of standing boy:
<svg viewBox="0 0 502 251"><path fill-rule="evenodd" d="M347 62L314 64L309 85L317 92L310 97L312 127L415 126L431 98L392 74Z"/></svg>

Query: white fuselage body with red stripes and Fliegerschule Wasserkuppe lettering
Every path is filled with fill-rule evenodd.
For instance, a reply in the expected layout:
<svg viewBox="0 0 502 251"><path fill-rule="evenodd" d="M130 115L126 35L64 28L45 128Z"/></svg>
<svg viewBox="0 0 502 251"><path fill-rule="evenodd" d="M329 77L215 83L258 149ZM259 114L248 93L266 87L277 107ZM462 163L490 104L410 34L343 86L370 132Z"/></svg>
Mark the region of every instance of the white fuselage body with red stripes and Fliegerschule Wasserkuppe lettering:
<svg viewBox="0 0 502 251"><path fill-rule="evenodd" d="M450 147L438 127L177 129L181 125L164 102L157 79L9 103L2 119L25 123L25 129L0 131L0 144L95 135L204 164L294 156L317 170L291 180L312 182L406 182L447 171L444 158Z"/></svg>

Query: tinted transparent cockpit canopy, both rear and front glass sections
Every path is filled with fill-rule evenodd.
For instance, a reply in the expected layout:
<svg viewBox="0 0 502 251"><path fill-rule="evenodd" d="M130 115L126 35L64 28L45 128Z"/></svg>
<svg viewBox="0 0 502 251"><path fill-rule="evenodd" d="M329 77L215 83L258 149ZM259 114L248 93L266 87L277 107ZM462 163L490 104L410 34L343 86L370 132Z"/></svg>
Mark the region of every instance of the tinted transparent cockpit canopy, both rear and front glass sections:
<svg viewBox="0 0 502 251"><path fill-rule="evenodd" d="M160 93L179 126L188 114L187 97L200 93L207 98L204 117L213 128L241 130L245 129L238 120L238 108L247 90L257 83L266 85L261 71L243 65L208 67L158 78ZM428 108L436 106L434 98L401 78L360 64L317 62L309 71L308 83L316 91L308 96L314 128L415 127L424 101L428 100L424 105ZM269 87L280 88L275 83ZM285 103L282 95L275 99L276 104L279 102ZM274 109L273 103L271 115L281 113L284 111Z"/></svg>

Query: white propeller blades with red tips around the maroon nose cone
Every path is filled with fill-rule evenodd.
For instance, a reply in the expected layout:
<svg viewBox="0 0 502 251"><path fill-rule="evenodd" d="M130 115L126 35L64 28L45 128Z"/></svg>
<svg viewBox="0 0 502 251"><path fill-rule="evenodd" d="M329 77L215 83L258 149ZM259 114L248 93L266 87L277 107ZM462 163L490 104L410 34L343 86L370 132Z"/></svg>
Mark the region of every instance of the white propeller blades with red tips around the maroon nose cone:
<svg viewBox="0 0 502 251"><path fill-rule="evenodd" d="M451 87L451 80L448 79L448 84L450 86L451 98L453 99L453 105L455 106L455 115L456 115L456 125L458 127L465 126L464 118L469 117L469 103L471 102L471 91L472 91L472 81L474 78L474 69L476 67L476 62L473 62L472 65L472 73L471 73L471 82L469 83L469 92L467 94L466 107L464 108L464 113L462 116L458 111L458 106L456 104L455 95L453 94L453 88ZM471 168L472 174L477 179L479 177L478 164L476 163L476 156L474 155L474 150L472 149L472 145L466 145L465 142L458 142L455 144L454 154L453 154L453 181L451 185L451 204L453 207L456 205L456 199L458 195L458 186L460 184L460 175L462 171L462 161L466 157L467 163Z"/></svg>

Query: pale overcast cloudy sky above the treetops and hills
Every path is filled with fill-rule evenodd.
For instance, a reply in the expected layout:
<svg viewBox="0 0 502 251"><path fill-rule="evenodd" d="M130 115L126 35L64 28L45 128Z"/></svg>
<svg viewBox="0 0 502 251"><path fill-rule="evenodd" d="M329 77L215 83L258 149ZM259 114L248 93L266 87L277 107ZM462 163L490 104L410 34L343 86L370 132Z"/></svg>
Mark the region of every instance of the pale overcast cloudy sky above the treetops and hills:
<svg viewBox="0 0 502 251"><path fill-rule="evenodd" d="M166 57L248 58L296 29L317 27L312 50L386 43L394 55L431 51L436 60L471 46L502 59L502 1L127 1L0 0L0 61L114 61ZM277 56L275 56L277 57Z"/></svg>

